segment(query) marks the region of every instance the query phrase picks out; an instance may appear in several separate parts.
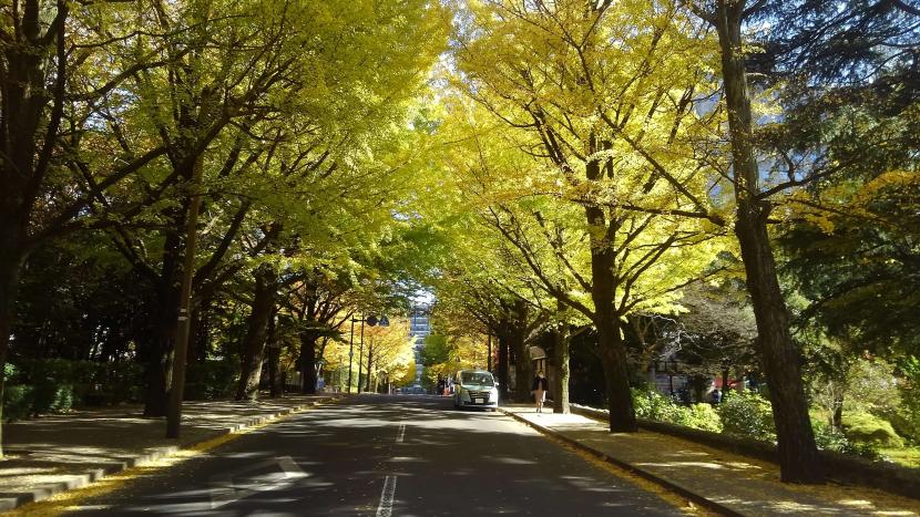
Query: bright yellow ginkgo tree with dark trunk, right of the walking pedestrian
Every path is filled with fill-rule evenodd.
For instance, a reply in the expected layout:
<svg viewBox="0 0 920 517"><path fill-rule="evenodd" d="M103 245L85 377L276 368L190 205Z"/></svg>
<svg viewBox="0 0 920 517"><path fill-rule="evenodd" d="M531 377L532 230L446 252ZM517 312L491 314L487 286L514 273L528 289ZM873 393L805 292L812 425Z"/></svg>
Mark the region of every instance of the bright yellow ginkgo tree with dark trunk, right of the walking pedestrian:
<svg viewBox="0 0 920 517"><path fill-rule="evenodd" d="M667 2L472 2L466 14L453 84L473 104L466 117L483 122L454 162L507 178L488 188L501 193L491 225L542 289L593 322L610 427L635 431L621 318L673 302L724 220L694 146L720 121L704 110L713 41Z"/></svg>

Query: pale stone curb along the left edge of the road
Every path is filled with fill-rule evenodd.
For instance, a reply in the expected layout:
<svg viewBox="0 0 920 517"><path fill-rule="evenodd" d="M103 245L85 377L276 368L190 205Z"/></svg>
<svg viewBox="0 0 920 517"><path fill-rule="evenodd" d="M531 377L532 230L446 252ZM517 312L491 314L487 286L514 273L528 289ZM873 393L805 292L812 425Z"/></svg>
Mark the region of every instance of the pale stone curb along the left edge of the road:
<svg viewBox="0 0 920 517"><path fill-rule="evenodd" d="M93 468L82 474L74 474L62 482L39 485L35 488L32 488L28 492L0 493L0 511L10 511L22 505L29 503L37 503L42 499L47 499L51 496L61 494L63 492L83 488L84 486L103 479L105 476L111 476L112 474L117 474L129 468L155 462L157 459L175 454L178 451L193 448L207 441L218 438L221 436L226 436L228 434L237 433L248 427L262 425L270 421L277 420L282 416L304 411L307 407L314 407L319 404L327 404L329 402L336 401L337 399L337 396L326 396L323 399L317 399L315 401L309 401L297 406L287 407L275 413L268 414L266 416L248 418L242 424L235 424L229 427L224 427L222 430L218 430L215 434L207 437L203 437L202 440L195 442L190 442L183 445L167 445L164 447L154 447L152 449L149 449L150 452L147 452L146 454L140 454L137 456L129 457L122 462L114 463L104 468Z"/></svg>

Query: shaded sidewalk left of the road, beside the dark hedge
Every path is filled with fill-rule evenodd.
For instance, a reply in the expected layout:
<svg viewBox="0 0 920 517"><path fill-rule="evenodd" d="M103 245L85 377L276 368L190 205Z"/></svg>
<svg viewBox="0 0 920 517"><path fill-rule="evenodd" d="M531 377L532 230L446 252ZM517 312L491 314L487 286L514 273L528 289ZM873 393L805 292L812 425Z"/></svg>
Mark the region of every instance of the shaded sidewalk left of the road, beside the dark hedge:
<svg viewBox="0 0 920 517"><path fill-rule="evenodd" d="M165 420L145 418L143 409L133 405L6 424L3 447L8 456L0 461L0 511L336 397L185 402L180 440L164 438Z"/></svg>

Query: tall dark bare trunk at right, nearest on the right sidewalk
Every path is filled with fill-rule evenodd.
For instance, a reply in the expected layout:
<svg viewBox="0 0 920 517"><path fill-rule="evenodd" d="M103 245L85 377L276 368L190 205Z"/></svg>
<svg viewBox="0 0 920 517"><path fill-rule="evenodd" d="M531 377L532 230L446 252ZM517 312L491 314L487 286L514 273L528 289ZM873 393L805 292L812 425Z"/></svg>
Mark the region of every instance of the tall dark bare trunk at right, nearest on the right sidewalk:
<svg viewBox="0 0 920 517"><path fill-rule="evenodd" d="M735 235L757 322L757 349L770 383L780 477L787 483L821 483L825 473L801 383L801 358L789 334L789 316L767 234L770 206L757 197L759 169L752 142L750 100L742 48L744 9L744 1L719 0L715 11L737 201Z"/></svg>

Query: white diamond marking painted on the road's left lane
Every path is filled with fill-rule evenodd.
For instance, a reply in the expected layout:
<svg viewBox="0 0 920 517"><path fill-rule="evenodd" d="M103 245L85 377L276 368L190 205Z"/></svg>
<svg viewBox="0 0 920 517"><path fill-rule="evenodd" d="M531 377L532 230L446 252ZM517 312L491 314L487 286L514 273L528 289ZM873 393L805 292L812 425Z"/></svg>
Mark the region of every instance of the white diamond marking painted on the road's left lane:
<svg viewBox="0 0 920 517"><path fill-rule="evenodd" d="M278 466L282 472L268 472L260 475L246 475L265 467ZM211 509L217 509L231 503L249 497L260 492L286 488L297 479L308 477L297 462L290 456L282 456L259 462L243 468L231 471L211 478Z"/></svg>

